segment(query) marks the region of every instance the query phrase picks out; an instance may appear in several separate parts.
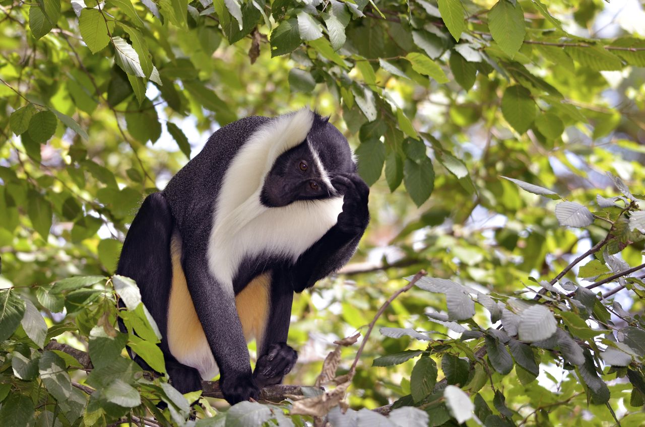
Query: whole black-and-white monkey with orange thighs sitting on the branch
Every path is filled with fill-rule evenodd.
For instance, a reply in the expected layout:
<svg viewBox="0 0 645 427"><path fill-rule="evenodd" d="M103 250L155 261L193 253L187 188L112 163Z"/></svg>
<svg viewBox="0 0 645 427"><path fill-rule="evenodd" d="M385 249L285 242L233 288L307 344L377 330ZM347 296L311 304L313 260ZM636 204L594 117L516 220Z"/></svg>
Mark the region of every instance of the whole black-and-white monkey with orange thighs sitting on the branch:
<svg viewBox="0 0 645 427"><path fill-rule="evenodd" d="M177 390L219 372L234 404L283 380L297 359L286 344L293 292L352 257L368 194L347 140L305 109L224 126L146 197L117 273L137 282Z"/></svg>

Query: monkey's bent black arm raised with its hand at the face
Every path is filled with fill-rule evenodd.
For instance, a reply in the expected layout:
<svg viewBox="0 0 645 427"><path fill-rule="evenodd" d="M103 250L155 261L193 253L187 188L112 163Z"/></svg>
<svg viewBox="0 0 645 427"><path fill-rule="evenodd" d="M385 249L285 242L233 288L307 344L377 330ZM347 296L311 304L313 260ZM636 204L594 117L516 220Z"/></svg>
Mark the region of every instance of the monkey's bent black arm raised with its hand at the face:
<svg viewBox="0 0 645 427"><path fill-rule="evenodd" d="M344 195L337 223L301 255L290 269L295 292L303 292L317 281L341 268L355 252L370 222L370 188L357 174L337 175L334 187Z"/></svg>

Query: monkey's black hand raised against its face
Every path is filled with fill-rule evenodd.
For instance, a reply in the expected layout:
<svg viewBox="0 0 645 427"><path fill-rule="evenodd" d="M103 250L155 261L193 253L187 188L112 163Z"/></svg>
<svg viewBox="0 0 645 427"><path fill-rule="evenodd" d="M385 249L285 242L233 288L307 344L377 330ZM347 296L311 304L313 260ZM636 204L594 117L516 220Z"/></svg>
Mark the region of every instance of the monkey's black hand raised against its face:
<svg viewBox="0 0 645 427"><path fill-rule="evenodd" d="M336 175L333 177L332 184L340 194L344 195L337 226L342 232L362 235L370 222L370 211L367 206L370 187L358 174Z"/></svg>

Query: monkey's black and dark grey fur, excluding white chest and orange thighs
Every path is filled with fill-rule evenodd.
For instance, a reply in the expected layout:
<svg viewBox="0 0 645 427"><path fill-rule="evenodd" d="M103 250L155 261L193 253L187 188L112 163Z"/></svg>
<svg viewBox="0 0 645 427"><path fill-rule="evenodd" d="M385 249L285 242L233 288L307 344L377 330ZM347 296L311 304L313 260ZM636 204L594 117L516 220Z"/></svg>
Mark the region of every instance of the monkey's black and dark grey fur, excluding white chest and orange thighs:
<svg viewBox="0 0 645 427"><path fill-rule="evenodd" d="M296 193L295 199L324 198L335 193L344 195L342 213L337 224L306 250L295 265L260 255L244 259L239 266L233 278L235 294L258 274L271 274L270 313L261 348L258 349L259 359L252 373L234 295L223 290L212 277L206 253L213 226L213 209L224 172L250 135L269 120L266 117L248 117L224 126L210 137L202 152L175 175L163 193L148 196L126 236L117 268L117 273L137 281L143 302L159 325L163 335L160 347L175 388L183 393L198 390L201 387L199 373L178 362L166 341L172 285L170 239L173 230L179 230L183 248L181 261L188 290L221 372L221 390L231 404L257 399L261 386L278 384L293 368L297 353L286 344L293 292L302 292L345 264L369 221L369 189L356 174L346 139L327 119L315 115L307 141L319 153L333 188L321 188L319 194L304 187L294 186L291 192L269 188L273 176L291 173L289 167L293 159L290 155L293 152L302 154L303 147L306 147L302 144L290 150L291 154L281 155L274 163L264 183L267 196L265 200L263 191L262 201L266 206L284 206L293 201ZM319 178L315 172L312 171L311 179ZM298 175L294 175L292 181L296 179L299 179ZM143 360L135 360L144 368L150 368Z"/></svg>

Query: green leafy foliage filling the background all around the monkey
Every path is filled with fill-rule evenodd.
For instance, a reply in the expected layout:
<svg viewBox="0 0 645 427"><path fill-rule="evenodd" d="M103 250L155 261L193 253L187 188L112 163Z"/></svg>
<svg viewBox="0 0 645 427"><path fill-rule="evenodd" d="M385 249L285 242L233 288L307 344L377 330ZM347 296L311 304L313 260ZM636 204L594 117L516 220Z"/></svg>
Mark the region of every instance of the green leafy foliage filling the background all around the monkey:
<svg viewBox="0 0 645 427"><path fill-rule="evenodd" d="M608 8L0 0L0 424L642 425L644 12ZM338 385L222 410L128 359L164 370L115 262L213 130L303 105L372 185L356 281L293 307L289 380Z"/></svg>

